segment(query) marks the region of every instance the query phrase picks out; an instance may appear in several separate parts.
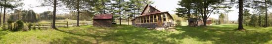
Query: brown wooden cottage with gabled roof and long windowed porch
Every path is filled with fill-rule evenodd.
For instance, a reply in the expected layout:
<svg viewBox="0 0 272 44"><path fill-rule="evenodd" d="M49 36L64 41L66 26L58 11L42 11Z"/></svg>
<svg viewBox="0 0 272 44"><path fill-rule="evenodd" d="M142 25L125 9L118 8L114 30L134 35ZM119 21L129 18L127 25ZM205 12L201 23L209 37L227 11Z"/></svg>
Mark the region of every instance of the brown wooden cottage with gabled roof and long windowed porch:
<svg viewBox="0 0 272 44"><path fill-rule="evenodd" d="M170 27L174 25L174 19L168 12L161 12L151 5L146 5L141 15L132 20L136 27Z"/></svg>

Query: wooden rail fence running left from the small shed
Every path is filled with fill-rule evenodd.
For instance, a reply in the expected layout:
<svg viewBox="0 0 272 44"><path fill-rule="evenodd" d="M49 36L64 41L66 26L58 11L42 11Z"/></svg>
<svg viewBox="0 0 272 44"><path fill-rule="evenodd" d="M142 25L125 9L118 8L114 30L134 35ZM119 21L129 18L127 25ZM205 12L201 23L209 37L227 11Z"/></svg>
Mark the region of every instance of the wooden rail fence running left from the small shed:
<svg viewBox="0 0 272 44"><path fill-rule="evenodd" d="M35 23L35 27L39 27L39 24L41 25L41 28L51 28L52 27L52 22L50 23ZM79 25L91 25L92 23L86 23L86 22L80 22ZM77 23L55 23L56 27L69 27L69 26L77 26Z"/></svg>

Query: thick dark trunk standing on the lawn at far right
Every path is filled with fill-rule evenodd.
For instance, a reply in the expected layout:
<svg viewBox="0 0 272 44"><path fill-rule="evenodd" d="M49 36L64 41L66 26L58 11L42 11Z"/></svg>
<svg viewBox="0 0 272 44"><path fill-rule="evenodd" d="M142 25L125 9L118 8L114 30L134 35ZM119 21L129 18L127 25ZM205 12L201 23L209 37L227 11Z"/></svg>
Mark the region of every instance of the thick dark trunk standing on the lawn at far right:
<svg viewBox="0 0 272 44"><path fill-rule="evenodd" d="M243 0L239 0L238 30L243 30Z"/></svg>

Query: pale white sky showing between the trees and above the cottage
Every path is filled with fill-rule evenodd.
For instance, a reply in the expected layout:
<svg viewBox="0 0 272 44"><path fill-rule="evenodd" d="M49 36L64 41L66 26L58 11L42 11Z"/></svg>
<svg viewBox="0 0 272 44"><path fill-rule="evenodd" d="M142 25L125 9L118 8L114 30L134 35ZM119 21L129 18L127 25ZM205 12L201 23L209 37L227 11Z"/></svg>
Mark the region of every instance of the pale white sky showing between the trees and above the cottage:
<svg viewBox="0 0 272 44"><path fill-rule="evenodd" d="M169 11L170 14L175 14L174 12L176 8L181 7L178 5L179 0L152 0L154 3L151 4L152 6L156 6L157 9L160 11ZM25 10L34 10L36 13L42 13L44 11L52 11L52 7L33 7L38 6L40 4L39 0L24 0L22 1L25 3L23 9ZM229 20L236 21L238 19L238 9L232 7L230 10L233 10L228 14ZM65 9L65 7L57 8L57 13L68 13L69 10ZM210 18L218 19L218 14L212 14Z"/></svg>

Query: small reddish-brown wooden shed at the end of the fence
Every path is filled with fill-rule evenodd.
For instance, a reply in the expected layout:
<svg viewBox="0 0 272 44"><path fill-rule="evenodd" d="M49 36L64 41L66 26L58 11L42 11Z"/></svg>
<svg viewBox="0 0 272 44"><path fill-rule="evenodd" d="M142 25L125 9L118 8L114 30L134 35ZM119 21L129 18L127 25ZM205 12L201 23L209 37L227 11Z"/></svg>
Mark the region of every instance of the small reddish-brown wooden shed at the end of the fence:
<svg viewBox="0 0 272 44"><path fill-rule="evenodd" d="M93 26L96 27L111 27L112 14L97 14L93 17Z"/></svg>

